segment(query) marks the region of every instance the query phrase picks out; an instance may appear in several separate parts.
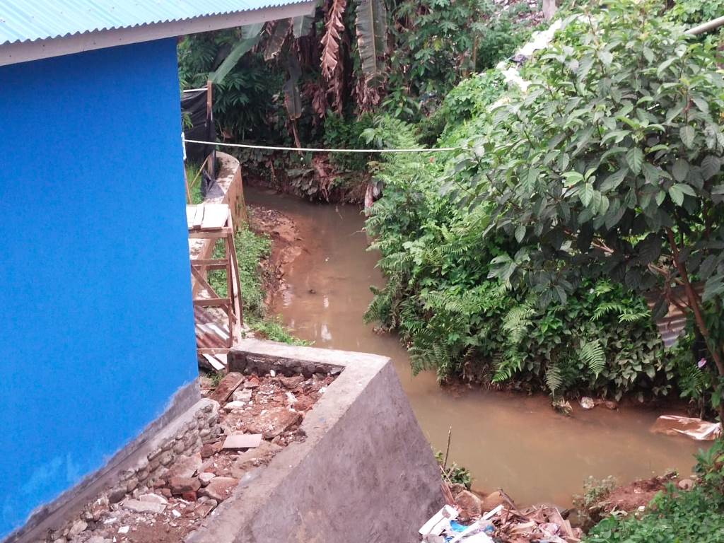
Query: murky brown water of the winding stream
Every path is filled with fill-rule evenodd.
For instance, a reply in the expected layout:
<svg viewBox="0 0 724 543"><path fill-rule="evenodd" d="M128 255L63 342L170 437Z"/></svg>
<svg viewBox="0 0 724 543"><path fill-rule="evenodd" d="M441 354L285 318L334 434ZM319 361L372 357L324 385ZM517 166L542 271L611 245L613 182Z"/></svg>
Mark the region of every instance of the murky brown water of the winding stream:
<svg viewBox="0 0 724 543"><path fill-rule="evenodd" d="M392 358L436 450L445 448L452 426L450 458L471 469L473 487L502 487L521 504L567 506L588 476L613 475L623 483L667 468L690 473L699 443L649 432L662 414L657 411L609 411L602 406L584 411L576 405L573 416L565 417L553 412L543 395L470 390L453 396L437 386L432 373L413 377L397 338L375 334L362 321L371 300L369 285L384 280L374 267L376 255L366 251L359 210L253 189L247 189L246 198L295 219L306 247L287 274L289 288L276 300L275 311L298 337L313 340L317 347Z"/></svg>

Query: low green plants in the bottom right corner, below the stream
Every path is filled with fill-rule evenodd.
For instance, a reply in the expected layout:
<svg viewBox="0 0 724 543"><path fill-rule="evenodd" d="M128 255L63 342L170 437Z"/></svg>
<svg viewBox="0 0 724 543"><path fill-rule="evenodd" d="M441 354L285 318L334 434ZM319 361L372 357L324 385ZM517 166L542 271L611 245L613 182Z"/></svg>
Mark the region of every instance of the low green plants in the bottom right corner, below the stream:
<svg viewBox="0 0 724 543"><path fill-rule="evenodd" d="M699 484L684 492L671 485L641 518L612 516L592 529L586 543L719 543L724 541L724 444L699 453Z"/></svg>

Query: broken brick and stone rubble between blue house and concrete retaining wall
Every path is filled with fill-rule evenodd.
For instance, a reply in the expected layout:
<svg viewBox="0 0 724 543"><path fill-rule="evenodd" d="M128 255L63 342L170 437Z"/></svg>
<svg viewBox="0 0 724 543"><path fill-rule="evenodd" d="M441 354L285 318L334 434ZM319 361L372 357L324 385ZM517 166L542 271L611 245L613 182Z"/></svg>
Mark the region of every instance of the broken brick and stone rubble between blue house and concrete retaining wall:
<svg viewBox="0 0 724 543"><path fill-rule="evenodd" d="M245 473L305 438L298 426L333 380L329 373L225 376L216 390L202 389L207 397L223 397L221 405L204 405L90 502L80 518L51 531L43 543L182 542L230 497ZM261 442L224 450L224 440L239 433L262 434Z"/></svg>

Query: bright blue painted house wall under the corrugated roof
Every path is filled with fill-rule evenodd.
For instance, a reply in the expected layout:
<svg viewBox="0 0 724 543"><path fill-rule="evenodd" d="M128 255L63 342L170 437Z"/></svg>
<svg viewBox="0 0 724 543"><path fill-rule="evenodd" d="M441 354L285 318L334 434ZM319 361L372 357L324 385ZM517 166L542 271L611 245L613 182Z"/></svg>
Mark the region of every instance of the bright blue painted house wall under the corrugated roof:
<svg viewBox="0 0 724 543"><path fill-rule="evenodd" d="M175 40L0 67L0 539L196 373Z"/></svg>

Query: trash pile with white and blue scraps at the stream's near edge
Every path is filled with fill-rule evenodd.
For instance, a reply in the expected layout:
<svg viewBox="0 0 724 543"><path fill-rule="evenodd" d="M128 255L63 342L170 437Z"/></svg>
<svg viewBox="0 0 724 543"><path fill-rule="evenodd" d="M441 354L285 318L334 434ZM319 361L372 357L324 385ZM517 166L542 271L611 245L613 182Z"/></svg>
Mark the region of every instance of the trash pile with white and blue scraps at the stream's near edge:
<svg viewBox="0 0 724 543"><path fill-rule="evenodd" d="M551 505L518 509L498 490L481 499L462 485L443 484L447 504L419 530L424 543L578 543L583 532L573 528ZM483 512L491 500L500 503Z"/></svg>

